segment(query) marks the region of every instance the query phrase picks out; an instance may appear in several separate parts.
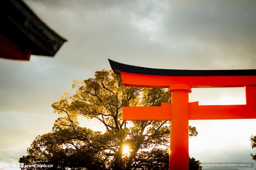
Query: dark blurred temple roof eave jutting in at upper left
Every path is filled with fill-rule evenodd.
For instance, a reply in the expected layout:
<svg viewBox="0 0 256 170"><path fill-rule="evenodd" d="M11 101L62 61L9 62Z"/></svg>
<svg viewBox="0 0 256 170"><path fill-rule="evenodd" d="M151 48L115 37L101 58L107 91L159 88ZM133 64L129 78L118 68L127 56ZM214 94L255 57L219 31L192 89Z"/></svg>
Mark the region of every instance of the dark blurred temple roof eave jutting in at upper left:
<svg viewBox="0 0 256 170"><path fill-rule="evenodd" d="M67 41L40 20L22 0L1 1L0 9L0 21L4 25L0 28L0 43L6 44L2 39L7 39L20 53L31 51L32 55L52 57ZM0 57L6 55L6 58L19 60L12 50L2 46L5 51Z"/></svg>

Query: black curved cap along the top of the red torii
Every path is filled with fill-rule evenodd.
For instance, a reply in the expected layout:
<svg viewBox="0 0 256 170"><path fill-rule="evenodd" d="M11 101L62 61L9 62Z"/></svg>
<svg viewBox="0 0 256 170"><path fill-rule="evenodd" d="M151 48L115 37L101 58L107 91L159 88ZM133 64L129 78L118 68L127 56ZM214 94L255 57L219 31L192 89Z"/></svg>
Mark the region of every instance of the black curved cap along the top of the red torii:
<svg viewBox="0 0 256 170"><path fill-rule="evenodd" d="M256 70L172 70L152 69L146 67L131 66L108 59L115 74L120 71L135 74L163 75L163 76L246 76L256 75Z"/></svg>

